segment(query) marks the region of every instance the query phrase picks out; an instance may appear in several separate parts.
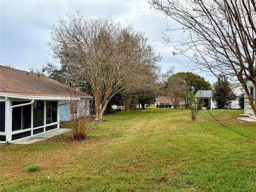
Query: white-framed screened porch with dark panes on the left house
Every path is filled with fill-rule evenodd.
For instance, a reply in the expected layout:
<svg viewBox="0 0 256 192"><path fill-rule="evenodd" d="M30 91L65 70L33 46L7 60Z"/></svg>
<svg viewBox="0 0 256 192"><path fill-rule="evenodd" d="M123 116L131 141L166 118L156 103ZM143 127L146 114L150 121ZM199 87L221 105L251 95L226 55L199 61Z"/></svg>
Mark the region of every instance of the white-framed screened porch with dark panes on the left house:
<svg viewBox="0 0 256 192"><path fill-rule="evenodd" d="M59 101L54 100L1 99L0 141L16 141L58 129L58 105Z"/></svg>

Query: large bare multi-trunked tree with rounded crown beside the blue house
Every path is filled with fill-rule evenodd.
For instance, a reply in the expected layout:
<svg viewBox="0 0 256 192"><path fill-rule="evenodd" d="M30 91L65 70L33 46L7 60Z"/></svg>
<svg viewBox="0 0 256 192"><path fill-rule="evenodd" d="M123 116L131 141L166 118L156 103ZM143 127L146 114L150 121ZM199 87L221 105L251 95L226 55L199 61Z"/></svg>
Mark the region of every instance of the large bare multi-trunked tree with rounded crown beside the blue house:
<svg viewBox="0 0 256 192"><path fill-rule="evenodd" d="M96 120L102 120L108 102L125 89L138 66L150 64L155 57L145 55L150 49L147 39L131 27L122 27L110 18L84 18L79 13L53 26L48 45L71 76L90 85Z"/></svg>

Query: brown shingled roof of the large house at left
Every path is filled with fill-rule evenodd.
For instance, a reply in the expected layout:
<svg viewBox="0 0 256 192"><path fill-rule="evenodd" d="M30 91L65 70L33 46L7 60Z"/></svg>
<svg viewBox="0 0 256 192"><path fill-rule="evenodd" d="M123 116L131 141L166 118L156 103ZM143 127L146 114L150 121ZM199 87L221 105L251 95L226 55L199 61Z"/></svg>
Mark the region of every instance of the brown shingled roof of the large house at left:
<svg viewBox="0 0 256 192"><path fill-rule="evenodd" d="M44 97L90 97L52 78L0 66L0 92Z"/></svg>

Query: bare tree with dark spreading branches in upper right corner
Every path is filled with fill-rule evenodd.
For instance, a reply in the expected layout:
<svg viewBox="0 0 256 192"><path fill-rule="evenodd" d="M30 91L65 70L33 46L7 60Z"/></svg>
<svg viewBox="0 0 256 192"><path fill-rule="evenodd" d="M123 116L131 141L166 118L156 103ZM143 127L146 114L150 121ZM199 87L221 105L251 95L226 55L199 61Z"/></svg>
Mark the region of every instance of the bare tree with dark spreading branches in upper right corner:
<svg viewBox="0 0 256 192"><path fill-rule="evenodd" d="M156 10L178 21L188 39L177 46L196 68L235 77L256 107L246 86L256 89L256 3L254 0L169 0L151 1ZM169 28L169 30L173 30ZM170 37L166 39L172 42ZM188 51L188 52L186 52ZM191 52L193 54L191 54Z"/></svg>

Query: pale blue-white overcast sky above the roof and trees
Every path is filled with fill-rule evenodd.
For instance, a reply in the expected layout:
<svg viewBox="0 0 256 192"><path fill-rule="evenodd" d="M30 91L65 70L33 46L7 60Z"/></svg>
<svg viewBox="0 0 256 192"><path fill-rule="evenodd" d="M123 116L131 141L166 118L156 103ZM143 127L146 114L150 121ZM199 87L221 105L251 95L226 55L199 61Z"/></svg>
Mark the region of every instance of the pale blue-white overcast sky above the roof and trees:
<svg viewBox="0 0 256 192"><path fill-rule="evenodd" d="M175 71L188 71L190 61L181 55L173 56L173 44L166 44L163 32L167 22L172 28L180 26L165 15L150 9L147 0L84 0L84 1L3 1L1 0L1 65L17 69L42 68L52 56L46 47L50 28L60 18L76 11L86 17L110 16L123 25L131 25L148 37L163 59L162 71L174 66ZM172 41L185 38L182 31L169 33ZM194 71L198 72L198 71ZM211 83L213 77L199 74Z"/></svg>

